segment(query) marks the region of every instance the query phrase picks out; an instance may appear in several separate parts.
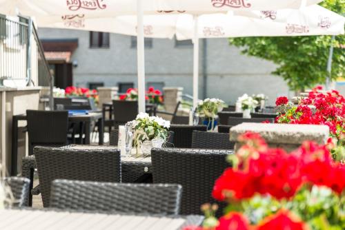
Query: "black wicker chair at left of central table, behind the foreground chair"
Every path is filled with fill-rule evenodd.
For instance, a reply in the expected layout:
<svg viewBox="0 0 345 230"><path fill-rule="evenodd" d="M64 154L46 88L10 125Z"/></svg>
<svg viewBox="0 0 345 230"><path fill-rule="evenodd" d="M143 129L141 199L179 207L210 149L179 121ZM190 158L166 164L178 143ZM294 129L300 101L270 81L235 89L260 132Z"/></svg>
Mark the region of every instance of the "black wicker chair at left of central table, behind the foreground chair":
<svg viewBox="0 0 345 230"><path fill-rule="evenodd" d="M121 181L118 149L34 147L43 207L49 207L52 180Z"/></svg>

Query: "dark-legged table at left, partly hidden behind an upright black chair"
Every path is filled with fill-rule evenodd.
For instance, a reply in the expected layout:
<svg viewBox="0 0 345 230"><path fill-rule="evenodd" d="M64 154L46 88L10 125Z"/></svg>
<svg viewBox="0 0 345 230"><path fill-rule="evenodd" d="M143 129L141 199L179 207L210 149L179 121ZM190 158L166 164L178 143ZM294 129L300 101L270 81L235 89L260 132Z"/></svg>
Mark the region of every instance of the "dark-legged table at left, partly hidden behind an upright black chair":
<svg viewBox="0 0 345 230"><path fill-rule="evenodd" d="M14 115L12 120L12 168L11 176L16 176L18 165L18 131L19 121L26 121L26 114ZM99 132L99 145L103 145L103 116L101 112L90 112L89 114L79 114L68 116L70 123L84 123L85 124L85 144L90 144L91 124L95 122Z"/></svg>

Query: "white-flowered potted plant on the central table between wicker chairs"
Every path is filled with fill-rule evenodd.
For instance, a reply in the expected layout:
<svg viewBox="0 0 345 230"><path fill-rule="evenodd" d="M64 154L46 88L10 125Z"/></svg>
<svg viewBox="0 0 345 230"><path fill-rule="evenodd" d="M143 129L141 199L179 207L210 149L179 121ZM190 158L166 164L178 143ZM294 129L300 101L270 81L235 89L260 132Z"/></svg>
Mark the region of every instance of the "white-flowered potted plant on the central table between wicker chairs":
<svg viewBox="0 0 345 230"><path fill-rule="evenodd" d="M133 145L142 154L148 155L152 147L162 147L168 139L170 121L158 116L139 113L132 121Z"/></svg>

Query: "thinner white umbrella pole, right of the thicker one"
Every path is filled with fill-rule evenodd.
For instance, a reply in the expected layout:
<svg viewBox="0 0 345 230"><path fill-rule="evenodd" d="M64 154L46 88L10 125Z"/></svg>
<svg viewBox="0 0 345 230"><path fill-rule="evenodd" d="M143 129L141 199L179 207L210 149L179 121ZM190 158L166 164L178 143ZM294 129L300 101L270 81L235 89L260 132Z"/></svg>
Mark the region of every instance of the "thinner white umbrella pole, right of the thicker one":
<svg viewBox="0 0 345 230"><path fill-rule="evenodd" d="M193 109L197 107L199 90L199 37L198 18L194 16L194 41L193 41Z"/></svg>

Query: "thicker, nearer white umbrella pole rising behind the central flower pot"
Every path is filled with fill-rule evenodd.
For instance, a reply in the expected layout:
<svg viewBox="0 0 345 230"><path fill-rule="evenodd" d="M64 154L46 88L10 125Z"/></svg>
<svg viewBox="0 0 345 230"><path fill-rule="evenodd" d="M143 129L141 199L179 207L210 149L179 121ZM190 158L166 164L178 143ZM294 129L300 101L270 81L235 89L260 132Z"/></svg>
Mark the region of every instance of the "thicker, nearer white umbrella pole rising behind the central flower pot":
<svg viewBox="0 0 345 230"><path fill-rule="evenodd" d="M144 10L143 0L137 0L137 68L138 68L138 111L145 109L145 58L144 58Z"/></svg>

